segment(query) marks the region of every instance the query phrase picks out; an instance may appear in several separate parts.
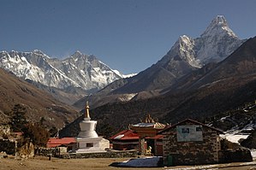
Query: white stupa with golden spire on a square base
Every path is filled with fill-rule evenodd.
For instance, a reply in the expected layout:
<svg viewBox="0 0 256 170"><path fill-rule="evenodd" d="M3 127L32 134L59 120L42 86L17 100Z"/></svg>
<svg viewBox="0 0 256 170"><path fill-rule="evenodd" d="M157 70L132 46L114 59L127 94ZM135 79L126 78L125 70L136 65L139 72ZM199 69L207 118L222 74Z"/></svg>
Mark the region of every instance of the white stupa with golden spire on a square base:
<svg viewBox="0 0 256 170"><path fill-rule="evenodd" d="M80 122L80 132L76 138L76 153L104 152L110 148L110 141L98 137L96 130L97 121L91 120L89 104L86 103L85 118Z"/></svg>

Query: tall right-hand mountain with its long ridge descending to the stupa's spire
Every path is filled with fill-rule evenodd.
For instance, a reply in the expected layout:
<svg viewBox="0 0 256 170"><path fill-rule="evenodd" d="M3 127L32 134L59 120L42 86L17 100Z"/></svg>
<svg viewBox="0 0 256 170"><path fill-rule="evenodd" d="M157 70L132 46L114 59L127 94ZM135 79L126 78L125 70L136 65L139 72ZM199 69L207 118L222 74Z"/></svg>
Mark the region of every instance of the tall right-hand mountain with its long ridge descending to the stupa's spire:
<svg viewBox="0 0 256 170"><path fill-rule="evenodd" d="M89 98L93 107L97 107L109 102L156 97L162 94L161 90L175 85L177 79L193 70L208 63L223 61L244 41L232 32L225 18L218 15L199 38L181 36L152 67L132 78L118 79L102 91L74 103L74 106L81 108L86 98Z"/></svg>

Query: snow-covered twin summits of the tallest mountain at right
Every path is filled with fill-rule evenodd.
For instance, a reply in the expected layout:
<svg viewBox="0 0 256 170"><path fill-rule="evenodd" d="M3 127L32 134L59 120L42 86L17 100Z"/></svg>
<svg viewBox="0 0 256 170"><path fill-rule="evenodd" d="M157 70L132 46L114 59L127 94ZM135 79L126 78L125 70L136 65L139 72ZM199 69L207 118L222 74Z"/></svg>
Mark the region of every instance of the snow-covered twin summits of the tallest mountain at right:
<svg viewBox="0 0 256 170"><path fill-rule="evenodd" d="M209 62L221 62L245 40L236 37L223 15L217 15L199 38L182 35L158 62L178 78Z"/></svg>

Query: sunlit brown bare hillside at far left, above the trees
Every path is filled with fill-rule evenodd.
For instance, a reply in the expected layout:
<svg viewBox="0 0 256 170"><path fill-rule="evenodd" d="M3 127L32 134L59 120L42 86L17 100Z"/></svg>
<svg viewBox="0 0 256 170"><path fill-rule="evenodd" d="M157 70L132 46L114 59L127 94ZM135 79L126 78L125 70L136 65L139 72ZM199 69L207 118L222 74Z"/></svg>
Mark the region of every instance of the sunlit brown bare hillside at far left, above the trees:
<svg viewBox="0 0 256 170"><path fill-rule="evenodd" d="M0 68L0 124L8 122L9 112L15 104L27 108L28 120L39 122L44 117L49 127L62 128L78 116L74 108Z"/></svg>

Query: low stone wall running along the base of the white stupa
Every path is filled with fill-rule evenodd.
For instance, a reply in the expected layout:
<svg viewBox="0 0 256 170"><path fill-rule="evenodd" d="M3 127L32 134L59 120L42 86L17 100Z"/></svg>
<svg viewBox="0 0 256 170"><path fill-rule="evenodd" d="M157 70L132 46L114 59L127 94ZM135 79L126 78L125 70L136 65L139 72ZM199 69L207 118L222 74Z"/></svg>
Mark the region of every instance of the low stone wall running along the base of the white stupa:
<svg viewBox="0 0 256 170"><path fill-rule="evenodd" d="M118 158L118 157L137 157L138 152L136 150L128 151L106 151L98 153L69 153L60 155L65 159L80 159L80 158Z"/></svg>

